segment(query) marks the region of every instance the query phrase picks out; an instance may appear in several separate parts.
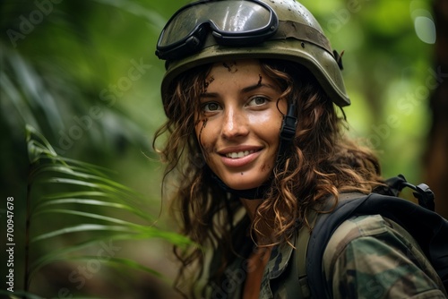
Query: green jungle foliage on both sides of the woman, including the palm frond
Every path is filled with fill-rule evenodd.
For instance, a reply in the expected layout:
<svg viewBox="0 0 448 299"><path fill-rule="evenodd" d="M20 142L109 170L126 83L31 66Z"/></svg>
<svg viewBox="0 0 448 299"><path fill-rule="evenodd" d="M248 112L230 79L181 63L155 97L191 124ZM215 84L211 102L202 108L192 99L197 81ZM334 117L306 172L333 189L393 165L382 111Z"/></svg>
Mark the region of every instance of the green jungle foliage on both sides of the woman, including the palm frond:
<svg viewBox="0 0 448 299"><path fill-rule="evenodd" d="M151 149L164 122L164 64L154 50L168 17L188 2L0 2L1 194L14 197L15 289L163 296L160 285L176 270L169 244L187 241L165 216ZM385 176L418 182L436 87L429 1L302 3L344 51L349 134L377 150ZM92 262L110 240L122 248L116 262Z"/></svg>

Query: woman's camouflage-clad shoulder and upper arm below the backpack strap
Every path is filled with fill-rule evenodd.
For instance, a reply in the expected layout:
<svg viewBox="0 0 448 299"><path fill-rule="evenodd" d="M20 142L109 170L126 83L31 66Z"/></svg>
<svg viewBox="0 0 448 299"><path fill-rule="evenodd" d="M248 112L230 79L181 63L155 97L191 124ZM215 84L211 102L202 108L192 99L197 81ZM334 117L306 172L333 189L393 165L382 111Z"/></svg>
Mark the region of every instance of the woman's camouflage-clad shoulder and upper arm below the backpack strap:
<svg viewBox="0 0 448 299"><path fill-rule="evenodd" d="M444 298L418 243L381 215L344 221L325 249L323 269L335 298Z"/></svg>

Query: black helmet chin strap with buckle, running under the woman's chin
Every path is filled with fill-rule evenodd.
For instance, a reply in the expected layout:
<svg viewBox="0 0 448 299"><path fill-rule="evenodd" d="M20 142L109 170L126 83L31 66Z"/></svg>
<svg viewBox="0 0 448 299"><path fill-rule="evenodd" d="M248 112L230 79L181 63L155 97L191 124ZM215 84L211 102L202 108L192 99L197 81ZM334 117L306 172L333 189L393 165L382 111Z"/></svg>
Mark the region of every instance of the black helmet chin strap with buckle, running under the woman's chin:
<svg viewBox="0 0 448 299"><path fill-rule="evenodd" d="M276 165L277 167L282 167L284 158L287 156L289 152L289 147L291 145L294 136L296 136L296 128L297 128L297 117L296 114L296 104L292 103L288 107L287 115L283 116L283 123L281 124L280 129L280 144L279 151L277 152ZM245 190L236 190L228 187L227 184L221 181L221 179L215 175L210 167L206 166L208 171L211 174L211 178L220 186L220 188L226 192L230 192L231 194L236 195L239 198L244 198L246 200L260 200L264 198L264 194L268 190L271 185L271 178L268 179L264 184L253 188L253 189L245 189Z"/></svg>

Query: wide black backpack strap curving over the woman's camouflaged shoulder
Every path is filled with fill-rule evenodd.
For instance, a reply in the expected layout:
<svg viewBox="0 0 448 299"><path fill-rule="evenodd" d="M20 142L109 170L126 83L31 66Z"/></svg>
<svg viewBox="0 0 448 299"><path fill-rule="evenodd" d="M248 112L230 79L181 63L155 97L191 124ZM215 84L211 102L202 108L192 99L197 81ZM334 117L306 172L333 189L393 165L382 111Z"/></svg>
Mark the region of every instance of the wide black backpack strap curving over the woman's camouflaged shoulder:
<svg viewBox="0 0 448 299"><path fill-rule="evenodd" d="M429 209L395 196L348 193L348 195L341 194L340 201L332 213L319 215L309 239L306 273L312 297L332 298L332 290L325 283L322 269L323 252L336 228L351 216L375 214L390 218L408 230L435 268L445 288L448 287L448 221L446 219Z"/></svg>

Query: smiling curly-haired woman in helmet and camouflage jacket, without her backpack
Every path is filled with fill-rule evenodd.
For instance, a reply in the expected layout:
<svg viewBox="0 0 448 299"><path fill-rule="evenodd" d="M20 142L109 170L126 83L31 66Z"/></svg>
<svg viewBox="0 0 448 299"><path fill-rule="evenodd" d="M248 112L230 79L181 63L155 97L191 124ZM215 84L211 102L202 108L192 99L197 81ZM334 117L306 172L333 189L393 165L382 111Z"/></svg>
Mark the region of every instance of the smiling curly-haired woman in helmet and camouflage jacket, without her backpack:
<svg viewBox="0 0 448 299"><path fill-rule="evenodd" d="M202 246L175 248L177 286L192 283L193 297L306 297L292 254L299 229L312 228L314 211L331 210L325 203L340 193L384 185L375 155L343 134L350 101L340 56L294 0L186 5L156 54L168 69L168 121L155 137L168 132L164 184L183 233ZM324 255L333 297L444 297L400 226L377 215L346 222ZM376 230L348 239L353 227ZM386 253L370 264L371 252Z"/></svg>

